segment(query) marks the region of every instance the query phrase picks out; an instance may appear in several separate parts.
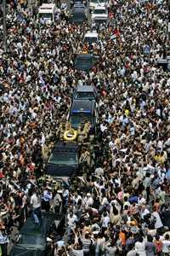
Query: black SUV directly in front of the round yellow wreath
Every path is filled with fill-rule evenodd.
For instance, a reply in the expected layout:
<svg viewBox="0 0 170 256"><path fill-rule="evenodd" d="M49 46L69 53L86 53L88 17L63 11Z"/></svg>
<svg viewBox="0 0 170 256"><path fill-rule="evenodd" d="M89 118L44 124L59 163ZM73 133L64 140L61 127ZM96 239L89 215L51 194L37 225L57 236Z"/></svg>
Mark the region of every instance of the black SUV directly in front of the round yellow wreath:
<svg viewBox="0 0 170 256"><path fill-rule="evenodd" d="M54 145L47 165L47 174L57 177L72 177L79 167L79 146L74 142L59 142Z"/></svg>

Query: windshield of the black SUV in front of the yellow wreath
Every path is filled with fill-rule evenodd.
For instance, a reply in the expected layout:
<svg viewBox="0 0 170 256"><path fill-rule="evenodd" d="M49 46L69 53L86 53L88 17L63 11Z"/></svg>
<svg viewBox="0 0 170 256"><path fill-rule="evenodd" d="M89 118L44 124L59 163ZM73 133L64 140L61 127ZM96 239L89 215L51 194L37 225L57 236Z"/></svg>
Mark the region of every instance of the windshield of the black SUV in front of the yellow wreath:
<svg viewBox="0 0 170 256"><path fill-rule="evenodd" d="M76 165L77 164L77 154L75 153L68 153L65 154L63 152L56 152L56 154L51 154L49 159L50 164L55 165Z"/></svg>

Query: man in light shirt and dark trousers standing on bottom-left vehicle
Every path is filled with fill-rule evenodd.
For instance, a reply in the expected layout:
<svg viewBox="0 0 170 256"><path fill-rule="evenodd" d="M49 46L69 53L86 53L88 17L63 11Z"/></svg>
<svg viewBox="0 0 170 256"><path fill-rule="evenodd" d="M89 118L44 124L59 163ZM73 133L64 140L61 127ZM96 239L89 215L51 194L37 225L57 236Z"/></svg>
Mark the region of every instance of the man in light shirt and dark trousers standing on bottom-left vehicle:
<svg viewBox="0 0 170 256"><path fill-rule="evenodd" d="M33 191L31 195L31 208L32 216L34 218L35 224L41 224L42 221L42 212L41 212L41 195L37 189Z"/></svg>

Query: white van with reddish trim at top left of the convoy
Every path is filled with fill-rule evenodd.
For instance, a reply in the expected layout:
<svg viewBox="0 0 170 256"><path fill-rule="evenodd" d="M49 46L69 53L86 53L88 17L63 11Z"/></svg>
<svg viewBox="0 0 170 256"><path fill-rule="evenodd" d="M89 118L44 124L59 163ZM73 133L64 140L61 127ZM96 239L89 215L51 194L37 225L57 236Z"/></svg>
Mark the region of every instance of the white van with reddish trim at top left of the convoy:
<svg viewBox="0 0 170 256"><path fill-rule="evenodd" d="M54 3L42 3L38 10L38 19L43 18L48 23L54 22L56 11Z"/></svg>

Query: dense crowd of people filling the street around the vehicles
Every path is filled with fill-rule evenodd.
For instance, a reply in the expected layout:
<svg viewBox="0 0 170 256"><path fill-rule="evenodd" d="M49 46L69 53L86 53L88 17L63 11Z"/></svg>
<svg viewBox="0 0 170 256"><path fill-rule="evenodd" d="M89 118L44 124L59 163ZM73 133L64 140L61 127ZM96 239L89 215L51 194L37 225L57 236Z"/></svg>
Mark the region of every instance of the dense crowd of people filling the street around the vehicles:
<svg viewBox="0 0 170 256"><path fill-rule="evenodd" d="M98 28L99 44L88 45L82 43L88 23L71 24L60 15L47 25L37 20L36 8L8 3L6 52L0 41L4 256L12 228L20 230L34 206L32 184L45 174L77 84L99 92L94 144L100 150L61 195L46 182L38 192L47 212L67 205L67 244L56 244L54 255L170 253L170 75L156 66L168 40L167 3L112 0L109 12L108 26ZM89 73L74 69L77 52L99 56Z"/></svg>

